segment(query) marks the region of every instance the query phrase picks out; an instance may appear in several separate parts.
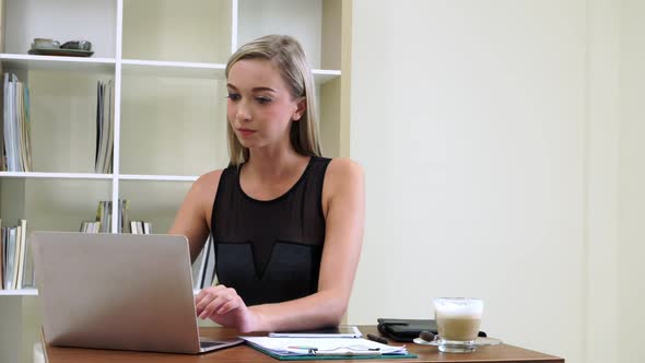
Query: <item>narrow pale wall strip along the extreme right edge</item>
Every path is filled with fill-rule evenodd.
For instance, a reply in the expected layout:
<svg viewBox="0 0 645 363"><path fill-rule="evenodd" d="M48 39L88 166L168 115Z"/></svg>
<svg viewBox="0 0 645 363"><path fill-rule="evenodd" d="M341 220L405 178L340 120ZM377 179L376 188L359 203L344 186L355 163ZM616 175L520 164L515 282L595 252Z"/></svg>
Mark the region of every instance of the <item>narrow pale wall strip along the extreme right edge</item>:
<svg viewBox="0 0 645 363"><path fill-rule="evenodd" d="M619 362L645 362L645 2L621 1Z"/></svg>

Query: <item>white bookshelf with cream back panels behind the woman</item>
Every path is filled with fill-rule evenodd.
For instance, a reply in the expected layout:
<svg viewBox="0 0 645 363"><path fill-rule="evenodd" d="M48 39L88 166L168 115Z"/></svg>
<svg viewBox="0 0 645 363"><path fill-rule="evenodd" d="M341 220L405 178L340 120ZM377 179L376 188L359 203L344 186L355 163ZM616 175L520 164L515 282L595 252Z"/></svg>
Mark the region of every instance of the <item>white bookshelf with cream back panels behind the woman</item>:
<svg viewBox="0 0 645 363"><path fill-rule="evenodd" d="M78 231L99 200L129 199L131 219L165 232L191 183L226 165L225 62L265 34L302 42L315 69L325 154L349 153L351 1L0 4L0 69L30 86L33 143L33 171L0 172L3 225L24 218L30 231ZM27 55L36 37L87 39L94 55ZM108 80L115 84L113 173L95 174L96 82ZM2 320L0 361L31 360L39 321L35 295L34 289L0 291L0 316L20 317Z"/></svg>

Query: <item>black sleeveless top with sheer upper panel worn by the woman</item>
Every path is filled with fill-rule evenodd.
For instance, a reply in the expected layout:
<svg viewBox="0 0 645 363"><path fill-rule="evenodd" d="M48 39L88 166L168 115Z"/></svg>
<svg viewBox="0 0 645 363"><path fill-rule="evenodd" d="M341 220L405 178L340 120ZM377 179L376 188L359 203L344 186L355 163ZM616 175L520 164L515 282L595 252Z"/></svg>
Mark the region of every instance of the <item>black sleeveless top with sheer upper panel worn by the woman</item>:
<svg viewBox="0 0 645 363"><path fill-rule="evenodd" d="M211 234L218 281L248 306L279 303L318 291L325 242L322 183L330 160L312 156L301 178L268 201L247 196L239 168L222 172Z"/></svg>

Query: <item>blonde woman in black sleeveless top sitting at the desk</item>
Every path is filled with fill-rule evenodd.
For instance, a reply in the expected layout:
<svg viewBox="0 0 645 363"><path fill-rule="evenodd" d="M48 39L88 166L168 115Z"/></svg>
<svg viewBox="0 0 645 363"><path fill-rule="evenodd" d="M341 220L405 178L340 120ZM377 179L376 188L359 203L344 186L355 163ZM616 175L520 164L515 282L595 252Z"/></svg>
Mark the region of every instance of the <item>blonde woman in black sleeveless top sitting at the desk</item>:
<svg viewBox="0 0 645 363"><path fill-rule="evenodd" d="M199 177L169 231L192 259L213 235L219 284L197 295L197 314L241 332L338 325L361 254L363 172L321 157L295 39L246 44L225 73L231 164Z"/></svg>

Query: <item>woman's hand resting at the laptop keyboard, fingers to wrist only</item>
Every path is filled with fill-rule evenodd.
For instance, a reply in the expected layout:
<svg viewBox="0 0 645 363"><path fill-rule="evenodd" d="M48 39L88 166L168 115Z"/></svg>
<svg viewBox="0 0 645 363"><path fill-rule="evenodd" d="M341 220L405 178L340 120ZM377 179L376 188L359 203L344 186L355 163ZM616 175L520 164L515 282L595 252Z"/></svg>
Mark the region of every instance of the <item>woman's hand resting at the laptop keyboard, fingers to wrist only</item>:
<svg viewBox="0 0 645 363"><path fill-rule="evenodd" d="M257 317L246 306L235 289L224 285L210 286L201 290L195 297L197 316L241 332L257 330Z"/></svg>

